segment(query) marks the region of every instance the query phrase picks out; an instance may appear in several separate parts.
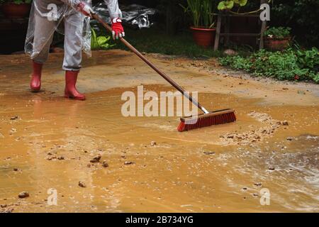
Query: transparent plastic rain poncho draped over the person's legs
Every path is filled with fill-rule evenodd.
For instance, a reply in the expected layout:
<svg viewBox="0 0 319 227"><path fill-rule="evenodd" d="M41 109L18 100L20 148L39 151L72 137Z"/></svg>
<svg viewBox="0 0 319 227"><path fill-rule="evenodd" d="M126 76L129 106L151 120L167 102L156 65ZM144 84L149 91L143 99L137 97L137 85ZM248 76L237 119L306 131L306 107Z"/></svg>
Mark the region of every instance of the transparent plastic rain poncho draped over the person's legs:
<svg viewBox="0 0 319 227"><path fill-rule="evenodd" d="M65 34L63 20L74 26L74 40L82 40L82 50L91 55L89 17L76 11L79 0L34 0L29 18L25 50L32 59L50 48L55 31ZM91 0L86 3L91 4ZM74 13L76 17L72 16Z"/></svg>

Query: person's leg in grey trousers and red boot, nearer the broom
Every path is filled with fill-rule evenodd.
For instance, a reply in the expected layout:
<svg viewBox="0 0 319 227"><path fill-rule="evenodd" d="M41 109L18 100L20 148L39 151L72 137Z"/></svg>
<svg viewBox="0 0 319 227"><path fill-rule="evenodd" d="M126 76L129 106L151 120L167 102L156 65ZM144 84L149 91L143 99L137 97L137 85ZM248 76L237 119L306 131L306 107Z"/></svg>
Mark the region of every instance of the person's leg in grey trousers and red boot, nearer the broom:
<svg viewBox="0 0 319 227"><path fill-rule="evenodd" d="M84 94L75 86L82 62L83 20L82 14L76 11L65 16L65 97L78 100L85 100Z"/></svg>

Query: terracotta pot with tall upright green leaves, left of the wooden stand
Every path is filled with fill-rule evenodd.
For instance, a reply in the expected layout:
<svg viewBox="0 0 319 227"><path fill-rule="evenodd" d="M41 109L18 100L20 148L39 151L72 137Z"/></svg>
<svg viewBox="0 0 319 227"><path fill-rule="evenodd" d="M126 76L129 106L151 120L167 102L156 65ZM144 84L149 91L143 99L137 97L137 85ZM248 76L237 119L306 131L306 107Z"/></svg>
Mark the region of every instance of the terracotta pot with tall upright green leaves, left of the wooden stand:
<svg viewBox="0 0 319 227"><path fill-rule="evenodd" d="M187 0L186 12L191 13L193 26L191 31L197 45L208 47L213 45L216 35L216 28L213 18L213 1L211 0Z"/></svg>

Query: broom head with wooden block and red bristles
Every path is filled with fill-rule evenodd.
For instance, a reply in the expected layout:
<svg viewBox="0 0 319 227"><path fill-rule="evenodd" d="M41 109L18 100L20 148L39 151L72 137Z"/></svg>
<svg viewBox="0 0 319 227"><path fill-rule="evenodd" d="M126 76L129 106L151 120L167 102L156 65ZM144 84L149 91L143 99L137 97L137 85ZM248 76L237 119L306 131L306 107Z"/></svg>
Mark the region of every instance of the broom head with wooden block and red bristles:
<svg viewBox="0 0 319 227"><path fill-rule="evenodd" d="M189 131L195 128L203 128L234 121L236 121L235 110L222 109L212 111L209 114L200 114L198 116L181 118L181 123L179 123L177 130L180 132Z"/></svg>

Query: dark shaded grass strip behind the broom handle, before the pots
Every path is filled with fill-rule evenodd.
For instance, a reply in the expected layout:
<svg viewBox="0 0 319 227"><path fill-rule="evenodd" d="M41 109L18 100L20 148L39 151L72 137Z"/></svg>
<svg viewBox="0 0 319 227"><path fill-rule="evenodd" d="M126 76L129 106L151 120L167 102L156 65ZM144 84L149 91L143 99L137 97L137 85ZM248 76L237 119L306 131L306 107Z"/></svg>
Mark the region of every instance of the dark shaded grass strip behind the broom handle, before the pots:
<svg viewBox="0 0 319 227"><path fill-rule="evenodd" d="M223 53L213 51L213 47L207 49L199 47L194 43L190 32L167 35L165 31L157 27L144 28L142 30L126 28L125 39L140 52L181 55L191 58L220 57ZM128 50L121 42L116 42L114 48Z"/></svg>

